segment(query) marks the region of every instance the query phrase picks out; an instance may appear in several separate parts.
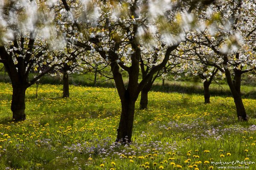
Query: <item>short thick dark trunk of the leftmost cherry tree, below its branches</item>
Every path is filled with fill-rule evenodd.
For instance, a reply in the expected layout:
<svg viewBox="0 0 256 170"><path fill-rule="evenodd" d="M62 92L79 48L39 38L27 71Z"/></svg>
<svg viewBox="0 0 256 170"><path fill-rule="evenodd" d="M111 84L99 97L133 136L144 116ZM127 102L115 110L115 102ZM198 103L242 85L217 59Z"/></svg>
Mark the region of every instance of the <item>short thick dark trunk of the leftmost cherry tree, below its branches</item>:
<svg viewBox="0 0 256 170"><path fill-rule="evenodd" d="M15 121L26 119L25 115L25 93L26 88L23 85L12 86L12 118Z"/></svg>

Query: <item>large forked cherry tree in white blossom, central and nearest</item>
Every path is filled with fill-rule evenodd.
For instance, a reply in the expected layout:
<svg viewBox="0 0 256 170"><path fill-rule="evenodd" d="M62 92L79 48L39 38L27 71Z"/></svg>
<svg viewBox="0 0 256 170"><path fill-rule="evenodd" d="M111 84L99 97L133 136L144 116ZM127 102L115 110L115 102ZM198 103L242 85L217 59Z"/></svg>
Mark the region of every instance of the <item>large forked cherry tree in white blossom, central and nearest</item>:
<svg viewBox="0 0 256 170"><path fill-rule="evenodd" d="M193 25L193 8L213 0L174 2L143 0L78 1L62 0L59 10L66 40L84 50L97 52L109 63L118 91L122 112L116 141L131 142L135 102L144 86L169 61L170 53L184 40L184 29ZM196 6L196 4L198 6ZM64 10L65 9L65 10ZM186 12L188 11L188 12ZM149 48L161 55L139 81L140 66L147 63ZM92 54L93 55L93 54ZM150 59L153 61L153 59ZM125 85L120 69L128 73Z"/></svg>

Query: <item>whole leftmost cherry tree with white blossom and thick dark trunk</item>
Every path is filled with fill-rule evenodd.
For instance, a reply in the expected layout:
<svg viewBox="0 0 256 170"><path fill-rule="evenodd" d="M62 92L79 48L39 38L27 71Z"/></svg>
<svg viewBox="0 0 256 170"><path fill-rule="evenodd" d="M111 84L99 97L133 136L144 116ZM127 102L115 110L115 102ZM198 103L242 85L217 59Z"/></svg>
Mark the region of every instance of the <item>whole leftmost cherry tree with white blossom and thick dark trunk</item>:
<svg viewBox="0 0 256 170"><path fill-rule="evenodd" d="M51 25L54 16L51 6L52 3L35 0L0 3L0 62L12 81L11 109L16 121L26 118L26 89L58 64L58 58L49 52L58 48L57 44L61 46L64 40ZM59 43L54 43L55 40ZM50 63L49 68L39 72L38 66L45 63ZM31 71L38 74L29 79Z"/></svg>

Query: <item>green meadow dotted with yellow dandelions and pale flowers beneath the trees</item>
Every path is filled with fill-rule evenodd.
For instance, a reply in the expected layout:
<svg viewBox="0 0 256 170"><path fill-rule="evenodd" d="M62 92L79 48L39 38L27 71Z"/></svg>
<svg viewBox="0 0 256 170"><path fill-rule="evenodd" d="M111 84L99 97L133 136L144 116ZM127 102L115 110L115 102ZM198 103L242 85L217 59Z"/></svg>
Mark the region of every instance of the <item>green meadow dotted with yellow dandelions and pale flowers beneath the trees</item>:
<svg viewBox="0 0 256 170"><path fill-rule="evenodd" d="M136 103L133 142L123 146L115 143L116 89L70 86L70 98L61 89L39 85L38 98L35 85L27 89L27 120L14 122L12 86L0 83L0 170L256 169L255 99L243 100L244 122L230 97L204 104L203 95L149 92L148 109Z"/></svg>

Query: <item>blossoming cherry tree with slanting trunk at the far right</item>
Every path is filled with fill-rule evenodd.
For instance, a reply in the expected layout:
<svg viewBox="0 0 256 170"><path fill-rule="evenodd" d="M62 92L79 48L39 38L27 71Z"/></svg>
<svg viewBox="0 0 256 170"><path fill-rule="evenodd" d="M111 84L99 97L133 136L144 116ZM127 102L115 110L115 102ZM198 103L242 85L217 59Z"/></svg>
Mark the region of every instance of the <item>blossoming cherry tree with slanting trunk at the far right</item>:
<svg viewBox="0 0 256 170"><path fill-rule="evenodd" d="M212 4L201 20L207 24L187 36L200 61L216 67L227 80L239 119L247 120L241 98L241 76L255 70L255 7L253 1L228 0ZM191 53L191 55L193 55ZM232 78L233 77L233 78Z"/></svg>

